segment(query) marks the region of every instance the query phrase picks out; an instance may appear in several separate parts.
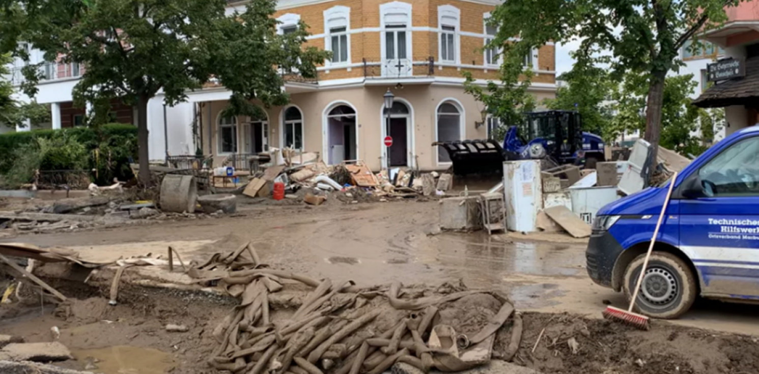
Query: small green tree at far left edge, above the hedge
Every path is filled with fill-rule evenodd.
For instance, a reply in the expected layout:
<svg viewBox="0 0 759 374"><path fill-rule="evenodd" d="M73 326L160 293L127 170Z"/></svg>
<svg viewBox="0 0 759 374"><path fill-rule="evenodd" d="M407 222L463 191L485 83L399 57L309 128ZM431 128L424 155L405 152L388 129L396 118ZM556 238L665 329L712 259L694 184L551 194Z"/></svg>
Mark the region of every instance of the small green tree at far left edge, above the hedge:
<svg viewBox="0 0 759 374"><path fill-rule="evenodd" d="M8 77L11 73L8 65L13 59L9 54L0 55L0 123L8 127L26 126L26 120L31 123L44 122L49 118L49 112L45 105L36 102L20 102L14 96L13 83L2 77Z"/></svg>

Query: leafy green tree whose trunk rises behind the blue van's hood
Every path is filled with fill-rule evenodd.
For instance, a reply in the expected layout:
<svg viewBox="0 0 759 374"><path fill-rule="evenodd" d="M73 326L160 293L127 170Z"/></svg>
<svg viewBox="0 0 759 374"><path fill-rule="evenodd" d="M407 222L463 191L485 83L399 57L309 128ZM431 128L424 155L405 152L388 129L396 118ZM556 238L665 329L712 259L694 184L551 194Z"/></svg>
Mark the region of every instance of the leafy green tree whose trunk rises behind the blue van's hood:
<svg viewBox="0 0 759 374"><path fill-rule="evenodd" d="M500 42L518 36L512 44L534 47L580 40L581 46L575 51L578 61L608 63L618 76L627 71L643 73L647 90L645 139L654 145L655 156L664 80L678 64L679 49L695 33L723 24L727 19L725 8L742 1L509 0L496 7L491 19L499 26ZM506 49L505 53L523 50ZM575 64L575 68L582 68L578 65L582 64Z"/></svg>

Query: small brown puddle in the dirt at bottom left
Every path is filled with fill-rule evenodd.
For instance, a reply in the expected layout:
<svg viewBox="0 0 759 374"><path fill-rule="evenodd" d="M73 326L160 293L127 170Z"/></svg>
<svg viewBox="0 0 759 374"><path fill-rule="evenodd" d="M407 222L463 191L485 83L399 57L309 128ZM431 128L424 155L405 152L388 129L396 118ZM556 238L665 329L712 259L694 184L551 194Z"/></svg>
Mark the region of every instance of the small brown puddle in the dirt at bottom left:
<svg viewBox="0 0 759 374"><path fill-rule="evenodd" d="M164 374L174 366L165 352L128 345L74 350L71 354L83 366L89 363L87 370L102 374Z"/></svg>

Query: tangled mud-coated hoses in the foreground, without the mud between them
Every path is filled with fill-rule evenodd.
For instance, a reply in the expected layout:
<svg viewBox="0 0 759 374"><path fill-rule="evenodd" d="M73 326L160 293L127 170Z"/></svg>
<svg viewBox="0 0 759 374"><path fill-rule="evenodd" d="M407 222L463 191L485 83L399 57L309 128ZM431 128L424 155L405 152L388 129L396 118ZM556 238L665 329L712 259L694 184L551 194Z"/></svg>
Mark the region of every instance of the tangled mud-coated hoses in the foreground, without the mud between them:
<svg viewBox="0 0 759 374"><path fill-rule="evenodd" d="M329 279L317 281L268 269L250 244L235 252L216 253L203 265L192 264L187 273L199 283L218 282L228 294L241 299L240 305L213 330L219 345L208 362L219 370L246 374L379 374L395 363L408 363L423 372L433 368L458 372L485 363L462 360L451 351L430 347L424 341L433 328L438 306L477 294L476 291L402 299L398 297L399 283L386 290L357 288L352 281L332 284ZM273 304L282 305L288 300L298 303L279 297L288 281L300 282L313 291L304 297L291 317L272 321ZM512 338L499 357L511 360L521 341L521 317L514 313L514 306L505 297L487 294L502 303L499 312L476 335L458 335L455 341L461 349L480 344L512 317ZM382 308L372 303L376 297L386 297L393 309L404 313L399 313L398 320L386 331L370 337L357 334L383 313Z"/></svg>

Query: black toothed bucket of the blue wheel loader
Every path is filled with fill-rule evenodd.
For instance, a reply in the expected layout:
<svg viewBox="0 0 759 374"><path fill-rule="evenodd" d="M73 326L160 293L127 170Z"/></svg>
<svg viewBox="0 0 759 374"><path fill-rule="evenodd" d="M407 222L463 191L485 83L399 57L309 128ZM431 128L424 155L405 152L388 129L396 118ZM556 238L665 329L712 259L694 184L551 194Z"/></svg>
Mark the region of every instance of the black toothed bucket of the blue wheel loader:
<svg viewBox="0 0 759 374"><path fill-rule="evenodd" d="M453 174L501 174L503 162L516 159L496 140L455 140L435 142L433 146L446 149L453 163Z"/></svg>

